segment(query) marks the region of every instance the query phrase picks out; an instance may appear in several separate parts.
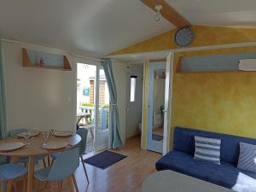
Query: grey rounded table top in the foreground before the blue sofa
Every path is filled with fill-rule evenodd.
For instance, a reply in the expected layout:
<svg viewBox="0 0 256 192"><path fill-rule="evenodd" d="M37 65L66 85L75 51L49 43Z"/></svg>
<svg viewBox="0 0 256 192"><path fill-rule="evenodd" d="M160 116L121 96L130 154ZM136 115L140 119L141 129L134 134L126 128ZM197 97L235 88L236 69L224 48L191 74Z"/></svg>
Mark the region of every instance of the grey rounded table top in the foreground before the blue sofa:
<svg viewBox="0 0 256 192"><path fill-rule="evenodd" d="M231 192L213 183L208 183L170 170L155 172L143 182L143 192Z"/></svg>

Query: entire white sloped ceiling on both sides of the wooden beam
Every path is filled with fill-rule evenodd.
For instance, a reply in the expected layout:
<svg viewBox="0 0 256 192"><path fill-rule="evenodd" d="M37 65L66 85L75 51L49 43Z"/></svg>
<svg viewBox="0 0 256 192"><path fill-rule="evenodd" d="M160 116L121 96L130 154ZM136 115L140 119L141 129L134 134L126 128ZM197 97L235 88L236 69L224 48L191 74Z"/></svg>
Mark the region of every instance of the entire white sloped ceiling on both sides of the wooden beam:
<svg viewBox="0 0 256 192"><path fill-rule="evenodd" d="M256 0L166 0L194 25L256 26ZM0 37L103 56L173 26L139 0L0 0Z"/></svg>

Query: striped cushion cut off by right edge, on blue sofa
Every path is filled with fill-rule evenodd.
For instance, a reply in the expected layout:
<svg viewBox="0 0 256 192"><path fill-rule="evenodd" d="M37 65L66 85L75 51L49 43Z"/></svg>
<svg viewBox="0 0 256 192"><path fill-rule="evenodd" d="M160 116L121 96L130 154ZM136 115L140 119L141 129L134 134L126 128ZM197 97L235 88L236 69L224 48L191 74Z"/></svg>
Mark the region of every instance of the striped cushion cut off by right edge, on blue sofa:
<svg viewBox="0 0 256 192"><path fill-rule="evenodd" d="M256 173L256 145L240 143L237 168Z"/></svg>

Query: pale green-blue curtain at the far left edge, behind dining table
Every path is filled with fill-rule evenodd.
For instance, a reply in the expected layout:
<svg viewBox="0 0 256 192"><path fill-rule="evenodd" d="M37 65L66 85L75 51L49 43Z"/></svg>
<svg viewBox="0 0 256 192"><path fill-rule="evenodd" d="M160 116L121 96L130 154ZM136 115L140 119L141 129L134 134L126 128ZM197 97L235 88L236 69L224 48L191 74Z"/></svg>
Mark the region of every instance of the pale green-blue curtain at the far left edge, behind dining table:
<svg viewBox="0 0 256 192"><path fill-rule="evenodd" d="M5 113L5 91L3 78L3 44L0 39L0 138L7 137L6 113ZM6 162L5 156L0 156L0 164Z"/></svg>

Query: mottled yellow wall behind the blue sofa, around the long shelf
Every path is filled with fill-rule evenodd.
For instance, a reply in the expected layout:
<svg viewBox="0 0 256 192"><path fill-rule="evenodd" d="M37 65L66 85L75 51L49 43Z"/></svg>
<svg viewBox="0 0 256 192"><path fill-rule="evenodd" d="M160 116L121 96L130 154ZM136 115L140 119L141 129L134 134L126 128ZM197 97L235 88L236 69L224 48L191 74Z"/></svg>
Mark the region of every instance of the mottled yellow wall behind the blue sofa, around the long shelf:
<svg viewBox="0 0 256 192"><path fill-rule="evenodd" d="M177 53L180 56L256 52L256 46ZM256 138L256 72L175 73L172 127Z"/></svg>

